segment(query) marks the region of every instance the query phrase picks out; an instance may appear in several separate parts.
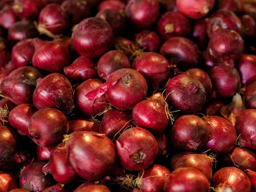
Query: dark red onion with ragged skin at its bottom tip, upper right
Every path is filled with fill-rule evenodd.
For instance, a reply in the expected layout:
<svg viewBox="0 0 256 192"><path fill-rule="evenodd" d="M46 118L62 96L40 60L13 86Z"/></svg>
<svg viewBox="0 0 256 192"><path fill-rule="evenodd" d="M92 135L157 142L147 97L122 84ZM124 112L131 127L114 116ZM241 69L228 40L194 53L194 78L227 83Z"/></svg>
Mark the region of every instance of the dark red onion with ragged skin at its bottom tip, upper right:
<svg viewBox="0 0 256 192"><path fill-rule="evenodd" d="M217 43L218 42L218 43ZM234 60L243 53L244 40L234 30L217 29L207 45L207 55L216 65L234 67Z"/></svg>

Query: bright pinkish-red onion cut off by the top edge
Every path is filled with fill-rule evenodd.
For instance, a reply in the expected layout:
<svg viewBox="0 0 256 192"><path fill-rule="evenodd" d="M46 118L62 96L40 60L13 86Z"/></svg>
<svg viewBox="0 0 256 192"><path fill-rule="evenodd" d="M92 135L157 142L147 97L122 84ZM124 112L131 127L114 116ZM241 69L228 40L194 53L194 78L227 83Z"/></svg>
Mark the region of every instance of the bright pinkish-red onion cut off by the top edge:
<svg viewBox="0 0 256 192"><path fill-rule="evenodd" d="M214 0L176 0L178 11L191 19L200 19L213 9Z"/></svg>

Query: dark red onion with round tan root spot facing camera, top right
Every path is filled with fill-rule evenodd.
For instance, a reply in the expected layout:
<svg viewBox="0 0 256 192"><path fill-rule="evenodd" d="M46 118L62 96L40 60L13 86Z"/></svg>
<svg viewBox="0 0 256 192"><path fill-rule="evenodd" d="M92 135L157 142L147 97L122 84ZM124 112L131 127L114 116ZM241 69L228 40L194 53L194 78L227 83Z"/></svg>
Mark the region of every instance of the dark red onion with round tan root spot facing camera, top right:
<svg viewBox="0 0 256 192"><path fill-rule="evenodd" d="M166 11L157 21L157 32L164 40L175 36L188 37L191 24L183 13Z"/></svg>

